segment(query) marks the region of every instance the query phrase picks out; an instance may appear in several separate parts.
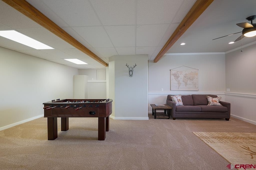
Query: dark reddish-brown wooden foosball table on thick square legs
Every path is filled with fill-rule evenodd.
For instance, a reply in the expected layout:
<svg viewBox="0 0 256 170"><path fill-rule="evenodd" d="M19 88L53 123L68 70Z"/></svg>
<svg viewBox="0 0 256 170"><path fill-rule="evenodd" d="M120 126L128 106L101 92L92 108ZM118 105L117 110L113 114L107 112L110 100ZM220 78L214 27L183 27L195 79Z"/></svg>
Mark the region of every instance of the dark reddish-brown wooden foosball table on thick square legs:
<svg viewBox="0 0 256 170"><path fill-rule="evenodd" d="M57 117L61 117L61 131L68 130L69 117L98 117L98 140L105 140L106 131L109 131L112 102L112 99L57 99L43 103L48 140L58 137Z"/></svg>

